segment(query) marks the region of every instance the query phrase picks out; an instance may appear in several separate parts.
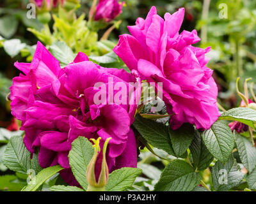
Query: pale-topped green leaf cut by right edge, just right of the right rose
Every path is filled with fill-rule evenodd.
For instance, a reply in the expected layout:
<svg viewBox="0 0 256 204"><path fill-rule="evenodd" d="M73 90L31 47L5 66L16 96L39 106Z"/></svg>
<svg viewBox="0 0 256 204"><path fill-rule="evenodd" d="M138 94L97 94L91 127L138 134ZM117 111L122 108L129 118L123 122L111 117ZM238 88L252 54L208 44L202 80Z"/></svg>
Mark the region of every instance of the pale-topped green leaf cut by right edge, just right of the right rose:
<svg viewBox="0 0 256 204"><path fill-rule="evenodd" d="M256 123L256 110L245 107L232 108L221 113L218 120L236 120L238 122L243 122L254 129Z"/></svg>

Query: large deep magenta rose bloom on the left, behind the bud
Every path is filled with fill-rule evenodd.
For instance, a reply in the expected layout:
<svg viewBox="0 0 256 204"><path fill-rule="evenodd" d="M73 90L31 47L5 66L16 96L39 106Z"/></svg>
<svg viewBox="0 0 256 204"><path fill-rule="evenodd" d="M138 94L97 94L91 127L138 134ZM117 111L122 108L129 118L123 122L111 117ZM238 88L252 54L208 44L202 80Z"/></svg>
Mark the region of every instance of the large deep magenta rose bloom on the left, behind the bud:
<svg viewBox="0 0 256 204"><path fill-rule="evenodd" d="M106 92L106 99L111 98L108 86L115 87L116 83L123 84L127 93L132 92L134 86L127 82L136 82L138 75L134 77L123 69L101 68L88 61L83 53L61 69L60 62L40 42L31 63L15 62L15 66L24 74L13 78L10 87L12 115L22 121L20 129L25 131L27 149L33 154L39 147L40 166L60 164L65 168L61 172L63 179L78 185L68 164L71 143L78 136L88 139L100 136L101 147L107 138L112 138L107 150L109 171L136 167L136 139L130 128L136 111L135 101L134 105L125 105L128 101L124 105L108 102L104 105L94 103L93 97L101 90ZM97 82L106 85L106 89L95 88ZM99 157L96 174L100 166Z"/></svg>

